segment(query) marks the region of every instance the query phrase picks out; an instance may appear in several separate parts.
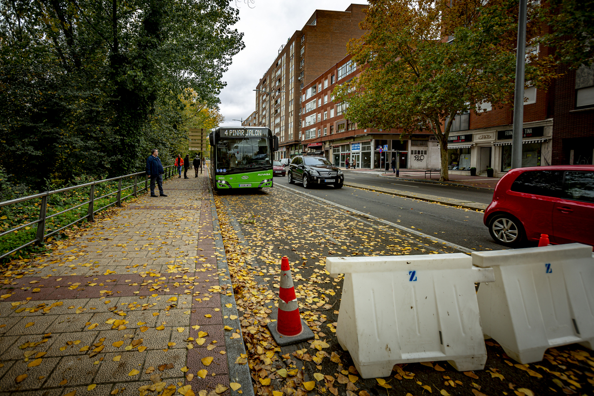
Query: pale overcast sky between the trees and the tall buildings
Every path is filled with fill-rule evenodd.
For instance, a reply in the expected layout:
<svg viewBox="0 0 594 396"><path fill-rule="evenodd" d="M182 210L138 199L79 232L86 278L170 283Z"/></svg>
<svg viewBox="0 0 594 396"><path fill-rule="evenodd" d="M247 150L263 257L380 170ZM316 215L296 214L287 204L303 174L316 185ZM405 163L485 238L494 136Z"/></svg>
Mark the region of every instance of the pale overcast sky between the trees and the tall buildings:
<svg viewBox="0 0 594 396"><path fill-rule="evenodd" d="M255 92L260 78L268 70L279 48L295 30L301 30L316 9L345 11L351 3L365 0L244 0L236 2L239 22L234 26L244 33L245 49L233 57L223 74L227 86L219 98L223 125L241 125L233 119L245 119L255 110ZM251 7L251 8L250 8Z"/></svg>

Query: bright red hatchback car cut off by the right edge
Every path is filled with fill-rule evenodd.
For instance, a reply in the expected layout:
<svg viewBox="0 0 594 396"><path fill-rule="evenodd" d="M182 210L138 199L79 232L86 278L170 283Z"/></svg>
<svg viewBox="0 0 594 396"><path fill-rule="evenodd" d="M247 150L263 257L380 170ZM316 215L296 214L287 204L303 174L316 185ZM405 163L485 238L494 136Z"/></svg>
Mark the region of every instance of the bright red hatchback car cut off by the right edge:
<svg viewBox="0 0 594 396"><path fill-rule="evenodd" d="M536 241L541 234L555 244L594 246L594 166L510 170L497 183L483 222L505 246Z"/></svg>

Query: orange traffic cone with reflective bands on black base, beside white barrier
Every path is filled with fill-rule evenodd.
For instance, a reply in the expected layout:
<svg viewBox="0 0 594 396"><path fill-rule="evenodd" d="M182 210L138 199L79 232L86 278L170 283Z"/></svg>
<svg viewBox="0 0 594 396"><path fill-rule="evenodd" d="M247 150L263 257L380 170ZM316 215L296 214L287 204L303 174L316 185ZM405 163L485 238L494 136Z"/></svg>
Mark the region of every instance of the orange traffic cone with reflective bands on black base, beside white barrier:
<svg viewBox="0 0 594 396"><path fill-rule="evenodd" d="M289 259L286 256L280 264L279 314L276 322L268 323L268 330L279 346L314 338L314 333L299 315L299 304L295 296Z"/></svg>

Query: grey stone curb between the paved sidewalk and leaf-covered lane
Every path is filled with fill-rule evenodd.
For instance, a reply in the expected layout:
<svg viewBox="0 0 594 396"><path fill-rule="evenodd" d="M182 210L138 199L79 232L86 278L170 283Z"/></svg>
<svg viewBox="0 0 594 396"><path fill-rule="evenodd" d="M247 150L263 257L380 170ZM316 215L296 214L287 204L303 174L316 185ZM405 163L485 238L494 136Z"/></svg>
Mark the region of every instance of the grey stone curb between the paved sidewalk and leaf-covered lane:
<svg viewBox="0 0 594 396"><path fill-rule="evenodd" d="M237 305L235 303L235 295L233 293L233 285L231 283L231 275L229 273L229 266L227 265L227 258L225 255L225 245L223 243L223 235L219 226L219 216L217 216L217 208L214 204L214 194L210 185L210 173L207 173L208 193L210 195L210 212L213 221L213 231L215 232L214 246L215 252L221 251L223 256L217 256L217 270L225 270L225 276L219 275L219 286L227 287L226 290L231 292L231 295L221 294L221 308L223 309L223 325L232 327L233 329L239 329L241 334L241 323L239 322L239 313L237 311ZM232 304L231 308L226 308L225 304ZM235 315L237 318L232 320L229 318L225 319L225 316ZM225 331L223 331L225 333ZM226 334L225 334L226 335ZM241 388L238 391L242 391L241 396L254 396L254 385L252 385L252 377L249 372L248 364L239 365L235 361L241 354L244 356L247 354L245 351L244 337L243 334L240 338L234 338L230 340L229 337L225 337L225 350L227 351L227 367L229 373L229 382L237 382L241 384ZM229 388L231 395L239 395L238 391L233 391Z"/></svg>

